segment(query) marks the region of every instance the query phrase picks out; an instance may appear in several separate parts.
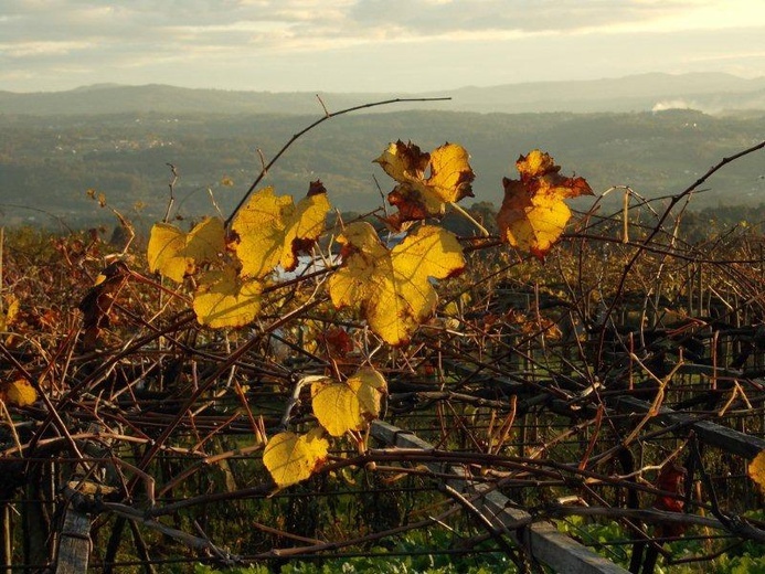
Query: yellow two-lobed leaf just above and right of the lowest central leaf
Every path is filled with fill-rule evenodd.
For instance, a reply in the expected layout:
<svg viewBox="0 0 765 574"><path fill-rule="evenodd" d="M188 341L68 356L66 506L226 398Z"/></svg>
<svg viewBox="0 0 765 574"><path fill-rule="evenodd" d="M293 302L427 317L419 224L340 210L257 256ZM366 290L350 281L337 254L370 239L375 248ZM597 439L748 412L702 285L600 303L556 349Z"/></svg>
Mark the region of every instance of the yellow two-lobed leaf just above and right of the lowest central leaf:
<svg viewBox="0 0 765 574"><path fill-rule="evenodd" d="M380 416L380 402L387 383L371 366L360 369L344 382L321 379L311 384L311 405L321 426L332 436L361 431Z"/></svg>

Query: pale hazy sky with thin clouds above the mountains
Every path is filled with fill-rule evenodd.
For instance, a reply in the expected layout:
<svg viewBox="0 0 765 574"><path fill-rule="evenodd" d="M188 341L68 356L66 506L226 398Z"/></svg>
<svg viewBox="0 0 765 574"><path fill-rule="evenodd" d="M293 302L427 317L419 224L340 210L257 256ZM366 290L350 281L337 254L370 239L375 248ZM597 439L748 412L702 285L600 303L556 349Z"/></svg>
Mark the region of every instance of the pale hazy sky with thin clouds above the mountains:
<svg viewBox="0 0 765 574"><path fill-rule="evenodd" d="M0 89L765 75L765 0L0 0Z"/></svg>

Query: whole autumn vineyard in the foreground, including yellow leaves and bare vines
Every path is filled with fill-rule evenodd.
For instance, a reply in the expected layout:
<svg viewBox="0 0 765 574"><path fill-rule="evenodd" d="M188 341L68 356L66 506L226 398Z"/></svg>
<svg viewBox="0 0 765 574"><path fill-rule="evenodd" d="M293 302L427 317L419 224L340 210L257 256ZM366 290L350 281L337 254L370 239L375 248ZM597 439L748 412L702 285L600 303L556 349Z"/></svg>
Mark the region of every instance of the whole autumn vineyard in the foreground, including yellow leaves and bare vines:
<svg viewBox="0 0 765 574"><path fill-rule="evenodd" d="M2 567L765 572L765 222L683 226L763 148L650 201L508 150L495 221L456 144L355 221L279 152L144 240L6 230Z"/></svg>

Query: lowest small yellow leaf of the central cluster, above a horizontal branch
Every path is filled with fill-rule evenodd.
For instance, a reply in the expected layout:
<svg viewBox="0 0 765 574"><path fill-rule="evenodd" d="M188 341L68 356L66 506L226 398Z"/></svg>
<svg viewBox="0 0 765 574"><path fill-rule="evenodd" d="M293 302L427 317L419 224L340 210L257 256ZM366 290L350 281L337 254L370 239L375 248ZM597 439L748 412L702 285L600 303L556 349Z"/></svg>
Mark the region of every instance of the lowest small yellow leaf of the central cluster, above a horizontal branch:
<svg viewBox="0 0 765 574"><path fill-rule="evenodd" d="M279 433L268 440L263 464L279 488L300 482L321 468L329 450L322 435L321 428L314 428L306 435Z"/></svg>

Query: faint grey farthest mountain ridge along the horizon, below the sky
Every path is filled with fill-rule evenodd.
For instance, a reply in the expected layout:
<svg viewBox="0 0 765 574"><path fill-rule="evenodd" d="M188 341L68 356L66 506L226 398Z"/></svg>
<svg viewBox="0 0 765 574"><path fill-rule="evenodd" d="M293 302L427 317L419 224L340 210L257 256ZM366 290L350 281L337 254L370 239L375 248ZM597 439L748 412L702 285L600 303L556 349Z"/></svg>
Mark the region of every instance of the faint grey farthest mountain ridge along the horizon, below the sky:
<svg viewBox="0 0 765 574"><path fill-rule="evenodd" d="M692 108L706 114L765 110L765 77L729 74L642 74L578 82L535 82L491 87L463 87L427 94L321 93L330 111L390 98L450 97L449 102L400 105L397 109L479 113L649 111ZM232 92L191 89L160 84L97 84L67 92L0 92L0 114L317 114L316 94L307 92Z"/></svg>

